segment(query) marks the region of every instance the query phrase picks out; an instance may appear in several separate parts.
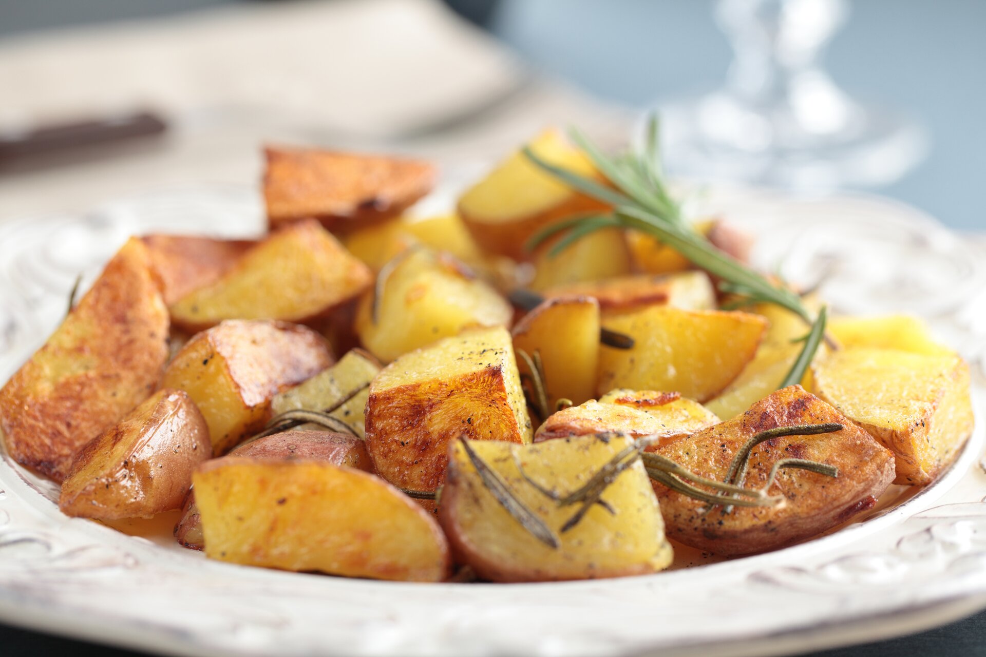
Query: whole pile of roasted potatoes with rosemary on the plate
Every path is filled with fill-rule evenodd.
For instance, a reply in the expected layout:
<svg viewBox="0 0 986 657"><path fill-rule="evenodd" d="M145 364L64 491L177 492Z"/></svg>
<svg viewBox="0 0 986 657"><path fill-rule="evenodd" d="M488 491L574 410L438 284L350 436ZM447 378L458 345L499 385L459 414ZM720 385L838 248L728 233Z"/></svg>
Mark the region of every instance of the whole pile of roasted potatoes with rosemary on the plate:
<svg viewBox="0 0 986 657"><path fill-rule="evenodd" d="M757 271L645 142L544 131L427 216L430 163L269 148L268 232L128 240L0 388L6 449L71 516L421 582L762 553L941 477L965 361Z"/></svg>

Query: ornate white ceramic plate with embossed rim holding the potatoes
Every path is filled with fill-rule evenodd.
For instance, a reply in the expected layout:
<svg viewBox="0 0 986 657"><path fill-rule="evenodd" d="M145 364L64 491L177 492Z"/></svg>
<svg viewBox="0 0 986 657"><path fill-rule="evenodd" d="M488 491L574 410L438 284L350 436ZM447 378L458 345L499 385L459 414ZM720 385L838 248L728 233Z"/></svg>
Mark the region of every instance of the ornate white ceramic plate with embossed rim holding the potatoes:
<svg viewBox="0 0 986 657"><path fill-rule="evenodd" d="M55 487L4 454L0 620L174 654L718 655L878 639L986 606L986 252L872 197L717 189L694 205L756 233L759 264L780 262L802 284L824 274L836 310L923 315L963 353L978 425L942 480L896 488L865 521L759 557L589 582L422 585L208 561L170 540L173 518L124 527L142 536L69 519ZM0 224L0 380L58 323L76 275L92 281L128 234L261 227L255 192L240 188Z"/></svg>

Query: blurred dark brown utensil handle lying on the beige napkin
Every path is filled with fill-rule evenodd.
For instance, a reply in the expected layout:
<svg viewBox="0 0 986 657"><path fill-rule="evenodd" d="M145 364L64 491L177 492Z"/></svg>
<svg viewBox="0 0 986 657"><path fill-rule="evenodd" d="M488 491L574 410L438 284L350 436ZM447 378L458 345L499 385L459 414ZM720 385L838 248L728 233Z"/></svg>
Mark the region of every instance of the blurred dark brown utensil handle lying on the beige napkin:
<svg viewBox="0 0 986 657"><path fill-rule="evenodd" d="M167 129L160 116L141 111L42 126L26 132L0 132L0 171L65 164L82 155L92 156L101 147L155 137Z"/></svg>

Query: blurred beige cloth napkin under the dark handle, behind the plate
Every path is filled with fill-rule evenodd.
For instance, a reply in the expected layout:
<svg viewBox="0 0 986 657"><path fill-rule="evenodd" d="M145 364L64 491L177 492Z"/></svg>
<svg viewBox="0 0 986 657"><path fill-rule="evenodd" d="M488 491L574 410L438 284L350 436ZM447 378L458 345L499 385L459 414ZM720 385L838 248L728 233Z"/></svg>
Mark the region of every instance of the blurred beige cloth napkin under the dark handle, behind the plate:
<svg viewBox="0 0 986 657"><path fill-rule="evenodd" d="M538 129L625 135L629 114L532 74L437 0L229 7L0 41L0 130L149 107L162 140L0 175L0 219L146 189L252 184L262 142L413 152L455 167Z"/></svg>

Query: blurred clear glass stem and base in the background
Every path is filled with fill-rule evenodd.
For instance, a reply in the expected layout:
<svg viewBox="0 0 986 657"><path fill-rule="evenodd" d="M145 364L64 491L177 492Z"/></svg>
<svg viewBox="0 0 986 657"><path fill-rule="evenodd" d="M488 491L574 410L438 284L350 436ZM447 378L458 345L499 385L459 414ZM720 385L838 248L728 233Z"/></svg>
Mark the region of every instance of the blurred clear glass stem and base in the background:
<svg viewBox="0 0 986 657"><path fill-rule="evenodd" d="M726 85L662 107L679 174L825 190L887 184L924 156L907 117L850 98L819 62L847 0L719 0L735 49Z"/></svg>

